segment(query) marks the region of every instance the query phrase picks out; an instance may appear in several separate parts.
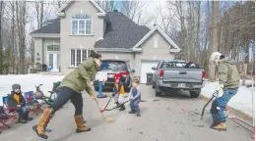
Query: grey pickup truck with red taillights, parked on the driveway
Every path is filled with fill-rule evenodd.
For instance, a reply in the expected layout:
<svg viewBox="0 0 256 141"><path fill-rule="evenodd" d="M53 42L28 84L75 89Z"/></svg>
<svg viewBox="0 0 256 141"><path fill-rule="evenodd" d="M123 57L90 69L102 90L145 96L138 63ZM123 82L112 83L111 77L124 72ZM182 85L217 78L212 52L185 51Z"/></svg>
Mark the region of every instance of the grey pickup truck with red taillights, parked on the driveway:
<svg viewBox="0 0 256 141"><path fill-rule="evenodd" d="M160 96L162 91L188 90L191 98L197 98L204 87L205 71L198 65L185 61L172 60L160 61L153 74L153 88L156 96Z"/></svg>

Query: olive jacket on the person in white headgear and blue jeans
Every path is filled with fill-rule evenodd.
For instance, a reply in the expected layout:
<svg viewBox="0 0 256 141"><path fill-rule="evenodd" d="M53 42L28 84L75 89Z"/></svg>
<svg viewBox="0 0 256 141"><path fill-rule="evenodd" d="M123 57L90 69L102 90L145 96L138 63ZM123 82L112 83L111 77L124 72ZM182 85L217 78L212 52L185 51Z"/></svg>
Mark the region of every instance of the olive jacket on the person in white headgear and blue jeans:
<svg viewBox="0 0 256 141"><path fill-rule="evenodd" d="M237 88L239 86L239 74L235 63L229 58L220 60L218 66L220 84L225 88Z"/></svg>

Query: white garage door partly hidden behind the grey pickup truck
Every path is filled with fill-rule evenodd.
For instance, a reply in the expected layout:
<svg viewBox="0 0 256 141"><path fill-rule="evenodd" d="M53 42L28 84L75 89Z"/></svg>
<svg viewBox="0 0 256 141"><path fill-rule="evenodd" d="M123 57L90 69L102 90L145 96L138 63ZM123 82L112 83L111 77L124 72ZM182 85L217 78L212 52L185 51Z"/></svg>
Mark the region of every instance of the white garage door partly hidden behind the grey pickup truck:
<svg viewBox="0 0 256 141"><path fill-rule="evenodd" d="M147 83L147 73L155 72L152 70L153 67L158 66L158 61L142 61L141 62L141 83Z"/></svg>

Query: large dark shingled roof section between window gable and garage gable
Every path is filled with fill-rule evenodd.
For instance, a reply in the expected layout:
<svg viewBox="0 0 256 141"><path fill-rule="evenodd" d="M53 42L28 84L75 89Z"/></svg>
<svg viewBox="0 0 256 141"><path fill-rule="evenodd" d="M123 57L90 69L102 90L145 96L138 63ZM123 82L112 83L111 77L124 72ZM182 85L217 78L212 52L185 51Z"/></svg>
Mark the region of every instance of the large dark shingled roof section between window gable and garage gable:
<svg viewBox="0 0 256 141"><path fill-rule="evenodd" d="M131 49L149 31L144 25L135 24L120 12L107 12L106 30L103 39L96 41L95 48Z"/></svg>

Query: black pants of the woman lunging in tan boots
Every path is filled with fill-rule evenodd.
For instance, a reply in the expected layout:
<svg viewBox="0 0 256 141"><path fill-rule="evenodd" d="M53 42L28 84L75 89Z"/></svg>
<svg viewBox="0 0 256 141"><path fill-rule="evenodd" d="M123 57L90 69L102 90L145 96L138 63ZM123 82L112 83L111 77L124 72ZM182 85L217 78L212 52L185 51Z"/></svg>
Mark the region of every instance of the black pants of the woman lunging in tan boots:
<svg viewBox="0 0 256 141"><path fill-rule="evenodd" d="M83 113L83 97L81 93L76 92L75 90L69 87L60 87L58 95L55 101L52 103L50 108L53 109L55 113L61 107L63 107L69 100L75 106L75 116L82 115Z"/></svg>

